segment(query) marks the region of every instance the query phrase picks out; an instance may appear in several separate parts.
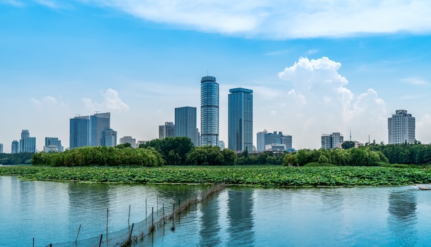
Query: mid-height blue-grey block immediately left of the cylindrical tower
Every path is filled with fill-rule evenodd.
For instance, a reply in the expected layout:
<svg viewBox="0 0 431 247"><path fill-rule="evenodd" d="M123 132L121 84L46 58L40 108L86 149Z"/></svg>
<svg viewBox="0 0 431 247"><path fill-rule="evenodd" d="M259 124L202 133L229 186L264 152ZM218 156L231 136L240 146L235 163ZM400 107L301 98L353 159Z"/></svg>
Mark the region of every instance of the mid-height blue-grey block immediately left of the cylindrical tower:
<svg viewBox="0 0 431 247"><path fill-rule="evenodd" d="M196 128L196 107L175 108L175 136L189 137L194 146L199 146Z"/></svg>

